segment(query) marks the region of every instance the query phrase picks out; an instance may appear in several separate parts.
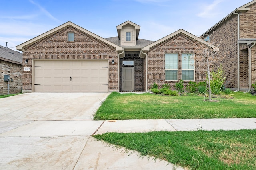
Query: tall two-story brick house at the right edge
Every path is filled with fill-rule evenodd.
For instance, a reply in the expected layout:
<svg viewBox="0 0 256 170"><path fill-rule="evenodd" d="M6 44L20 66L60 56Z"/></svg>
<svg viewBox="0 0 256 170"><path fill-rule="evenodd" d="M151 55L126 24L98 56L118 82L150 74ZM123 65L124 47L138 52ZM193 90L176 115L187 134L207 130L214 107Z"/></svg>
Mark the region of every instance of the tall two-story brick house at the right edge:
<svg viewBox="0 0 256 170"><path fill-rule="evenodd" d="M220 40L220 55L226 55L222 64L226 75L226 87L232 90L250 91L256 82L256 0L232 11L228 16L206 31L214 31L214 39Z"/></svg>

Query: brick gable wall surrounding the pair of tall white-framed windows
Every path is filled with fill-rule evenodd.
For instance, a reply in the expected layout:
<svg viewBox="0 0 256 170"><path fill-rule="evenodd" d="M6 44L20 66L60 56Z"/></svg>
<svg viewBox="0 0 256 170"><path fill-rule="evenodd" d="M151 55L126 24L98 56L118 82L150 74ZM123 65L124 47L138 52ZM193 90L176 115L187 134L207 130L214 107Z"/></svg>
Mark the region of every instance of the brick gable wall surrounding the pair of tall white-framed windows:
<svg viewBox="0 0 256 170"><path fill-rule="evenodd" d="M175 90L174 85L178 81L165 81L165 53L178 53L178 81L181 79L181 55L182 53L195 53L194 40L183 34L178 34L159 45L150 48L148 52L148 90L151 85L156 82L159 88L163 84L169 83L170 87ZM196 55L196 54L195 54ZM200 82L206 80L205 73L196 69L198 63L195 64L195 81ZM189 81L184 81L184 87Z"/></svg>

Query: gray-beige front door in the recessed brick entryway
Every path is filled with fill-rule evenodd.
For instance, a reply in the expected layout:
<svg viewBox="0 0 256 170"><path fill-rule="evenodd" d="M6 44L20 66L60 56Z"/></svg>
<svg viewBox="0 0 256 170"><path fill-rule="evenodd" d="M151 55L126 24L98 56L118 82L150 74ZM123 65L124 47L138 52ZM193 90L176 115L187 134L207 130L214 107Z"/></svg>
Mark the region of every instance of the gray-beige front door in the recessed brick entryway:
<svg viewBox="0 0 256 170"><path fill-rule="evenodd" d="M123 91L134 90L134 67L123 67Z"/></svg>

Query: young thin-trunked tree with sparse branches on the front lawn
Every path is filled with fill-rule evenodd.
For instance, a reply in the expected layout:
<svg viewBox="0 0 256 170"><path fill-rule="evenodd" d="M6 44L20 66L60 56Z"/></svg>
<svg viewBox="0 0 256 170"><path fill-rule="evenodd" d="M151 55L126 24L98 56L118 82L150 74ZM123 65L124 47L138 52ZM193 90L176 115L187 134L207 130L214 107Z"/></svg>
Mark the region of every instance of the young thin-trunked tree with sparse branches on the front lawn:
<svg viewBox="0 0 256 170"><path fill-rule="evenodd" d="M194 60L198 63L197 69L203 70L207 74L208 78L208 88L209 88L209 100L212 100L211 97L211 74L210 72L213 69L214 63L220 62L225 55L219 54L219 46L221 40L215 41L214 32L207 35L207 40L204 40L203 37L197 39L194 44L196 55L194 55Z"/></svg>

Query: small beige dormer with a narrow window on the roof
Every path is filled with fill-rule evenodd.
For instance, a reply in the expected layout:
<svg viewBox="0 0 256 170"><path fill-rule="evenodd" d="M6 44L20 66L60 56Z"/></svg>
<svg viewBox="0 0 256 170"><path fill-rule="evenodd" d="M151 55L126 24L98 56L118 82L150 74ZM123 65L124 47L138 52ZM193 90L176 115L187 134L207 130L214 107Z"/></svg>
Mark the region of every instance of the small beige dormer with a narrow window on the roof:
<svg viewBox="0 0 256 170"><path fill-rule="evenodd" d="M126 21L121 25L116 27L118 33L118 39L121 45L124 46L134 46L136 45L136 40L138 40L140 26L132 23L131 21Z"/></svg>

